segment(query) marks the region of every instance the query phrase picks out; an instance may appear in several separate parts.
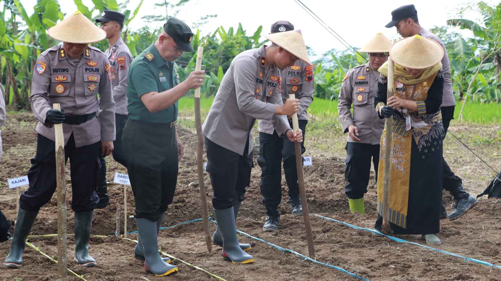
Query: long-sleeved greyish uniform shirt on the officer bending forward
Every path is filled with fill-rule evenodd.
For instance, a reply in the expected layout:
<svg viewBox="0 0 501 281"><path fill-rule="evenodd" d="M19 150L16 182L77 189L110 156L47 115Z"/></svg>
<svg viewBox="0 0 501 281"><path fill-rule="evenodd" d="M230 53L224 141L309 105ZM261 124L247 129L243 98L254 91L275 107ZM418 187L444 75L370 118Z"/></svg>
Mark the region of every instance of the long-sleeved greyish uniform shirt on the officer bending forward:
<svg viewBox="0 0 501 281"><path fill-rule="evenodd" d="M280 71L266 64L265 47L238 54L224 74L209 114L203 123L203 135L217 145L243 155L250 130L256 119L270 119L282 135L289 128L285 115L275 115L283 105L279 93Z"/></svg>

